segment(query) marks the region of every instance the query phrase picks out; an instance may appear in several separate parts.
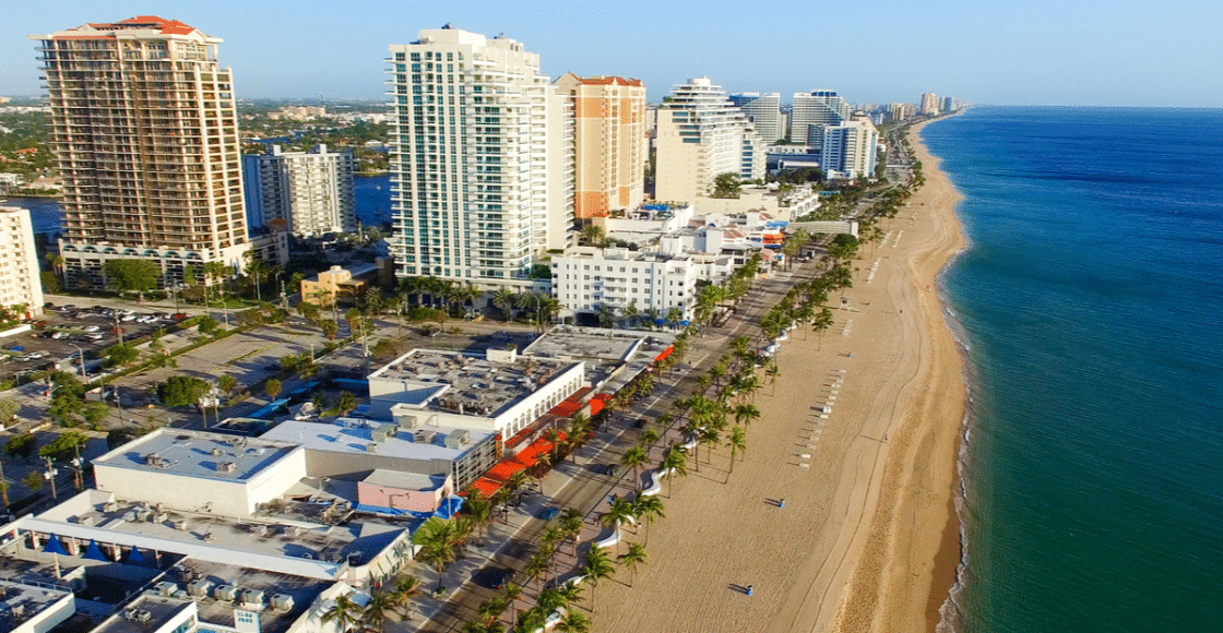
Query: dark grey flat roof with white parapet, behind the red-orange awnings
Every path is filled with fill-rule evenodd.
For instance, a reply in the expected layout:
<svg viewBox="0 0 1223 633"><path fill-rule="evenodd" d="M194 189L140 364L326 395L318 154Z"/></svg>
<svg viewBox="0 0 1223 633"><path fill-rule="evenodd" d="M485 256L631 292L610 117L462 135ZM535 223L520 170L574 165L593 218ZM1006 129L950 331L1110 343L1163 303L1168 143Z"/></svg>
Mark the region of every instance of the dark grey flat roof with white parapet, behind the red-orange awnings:
<svg viewBox="0 0 1223 633"><path fill-rule="evenodd" d="M572 364L521 357L501 363L460 352L412 349L369 374L369 381L371 391L379 380L412 385L419 398L411 403L427 411L497 417Z"/></svg>

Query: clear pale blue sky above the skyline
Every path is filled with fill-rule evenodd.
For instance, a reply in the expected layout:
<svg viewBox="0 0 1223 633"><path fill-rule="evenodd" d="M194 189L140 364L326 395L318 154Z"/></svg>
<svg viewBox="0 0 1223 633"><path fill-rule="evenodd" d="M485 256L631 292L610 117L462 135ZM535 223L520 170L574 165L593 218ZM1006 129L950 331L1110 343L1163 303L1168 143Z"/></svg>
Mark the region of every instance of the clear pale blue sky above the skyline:
<svg viewBox="0 0 1223 633"><path fill-rule="evenodd" d="M223 38L242 98L380 98L388 44L450 22L522 42L552 77L641 78L651 100L709 76L783 101L830 88L854 103L934 92L1009 105L1223 106L1223 4L1207 0L9 5L0 95L40 93L27 35L152 13Z"/></svg>

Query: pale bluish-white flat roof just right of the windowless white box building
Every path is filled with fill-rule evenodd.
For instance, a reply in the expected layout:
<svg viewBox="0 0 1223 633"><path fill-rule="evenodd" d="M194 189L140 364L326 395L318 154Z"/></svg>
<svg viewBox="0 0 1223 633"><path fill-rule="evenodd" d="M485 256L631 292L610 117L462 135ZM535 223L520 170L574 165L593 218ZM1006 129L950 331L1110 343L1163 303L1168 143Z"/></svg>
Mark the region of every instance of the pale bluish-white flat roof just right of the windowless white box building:
<svg viewBox="0 0 1223 633"><path fill-rule="evenodd" d="M374 431L385 425L386 423L357 418L338 418L331 423L286 420L268 430L263 436L274 441L297 444L308 451L379 455L404 459L455 461L494 433L461 429L467 433L467 442L457 448L450 448L446 446L446 437L459 429L426 424L416 429L401 430L385 440L374 442ZM378 445L373 451L369 450L372 444Z"/></svg>

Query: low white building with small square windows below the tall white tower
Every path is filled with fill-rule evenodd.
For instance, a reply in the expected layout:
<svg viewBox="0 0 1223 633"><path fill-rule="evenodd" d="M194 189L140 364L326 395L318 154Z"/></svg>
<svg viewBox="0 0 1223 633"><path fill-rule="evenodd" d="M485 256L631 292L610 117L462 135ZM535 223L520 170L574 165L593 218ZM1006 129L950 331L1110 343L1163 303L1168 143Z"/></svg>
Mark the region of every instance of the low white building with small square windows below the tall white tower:
<svg viewBox="0 0 1223 633"><path fill-rule="evenodd" d="M698 253L640 253L626 248L570 248L552 262L552 292L575 313L603 306L667 319L692 318L697 281L719 284L734 271L731 258Z"/></svg>

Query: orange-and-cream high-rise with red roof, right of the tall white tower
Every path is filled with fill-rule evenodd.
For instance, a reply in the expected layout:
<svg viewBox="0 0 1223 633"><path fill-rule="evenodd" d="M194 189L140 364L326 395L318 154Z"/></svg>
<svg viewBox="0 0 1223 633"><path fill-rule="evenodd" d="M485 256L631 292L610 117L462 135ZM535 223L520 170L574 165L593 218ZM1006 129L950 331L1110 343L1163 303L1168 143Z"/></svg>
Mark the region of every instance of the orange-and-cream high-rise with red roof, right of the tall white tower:
<svg viewBox="0 0 1223 633"><path fill-rule="evenodd" d="M645 197L646 86L621 77L578 77L555 82L574 111L574 215L607 218L613 209L634 209Z"/></svg>

